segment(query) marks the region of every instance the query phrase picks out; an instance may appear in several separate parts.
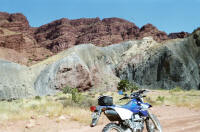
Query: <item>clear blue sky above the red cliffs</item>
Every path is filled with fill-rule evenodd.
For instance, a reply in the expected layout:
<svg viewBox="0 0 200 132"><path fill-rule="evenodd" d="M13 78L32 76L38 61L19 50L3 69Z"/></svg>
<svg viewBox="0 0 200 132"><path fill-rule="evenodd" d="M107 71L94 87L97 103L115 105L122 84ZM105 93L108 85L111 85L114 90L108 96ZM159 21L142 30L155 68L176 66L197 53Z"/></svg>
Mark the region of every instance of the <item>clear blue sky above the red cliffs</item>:
<svg viewBox="0 0 200 132"><path fill-rule="evenodd" d="M34 27L63 17L120 17L167 33L200 27L200 0L1 0L0 11L21 12Z"/></svg>

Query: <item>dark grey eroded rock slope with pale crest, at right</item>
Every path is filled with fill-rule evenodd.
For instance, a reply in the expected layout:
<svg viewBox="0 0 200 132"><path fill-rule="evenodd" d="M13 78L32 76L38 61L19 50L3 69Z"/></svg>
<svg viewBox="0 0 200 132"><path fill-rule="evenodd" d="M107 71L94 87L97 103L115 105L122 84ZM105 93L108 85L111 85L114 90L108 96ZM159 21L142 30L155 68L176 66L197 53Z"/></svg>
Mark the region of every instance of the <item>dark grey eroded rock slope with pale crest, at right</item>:
<svg viewBox="0 0 200 132"><path fill-rule="evenodd" d="M193 39L195 34L188 39L167 41L162 46L148 44L134 48L140 52L125 55L125 61L121 61L116 69L117 76L142 87L171 89L180 86L187 90L199 89L200 49L199 37Z"/></svg>

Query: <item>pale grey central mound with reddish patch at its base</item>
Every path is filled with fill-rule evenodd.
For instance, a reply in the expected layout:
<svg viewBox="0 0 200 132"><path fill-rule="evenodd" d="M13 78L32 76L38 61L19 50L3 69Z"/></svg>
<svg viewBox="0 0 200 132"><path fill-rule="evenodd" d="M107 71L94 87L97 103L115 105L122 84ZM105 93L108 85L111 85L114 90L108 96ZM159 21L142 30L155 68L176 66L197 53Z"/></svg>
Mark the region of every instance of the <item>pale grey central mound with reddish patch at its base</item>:
<svg viewBox="0 0 200 132"><path fill-rule="evenodd" d="M119 81L114 75L114 67L119 63L120 55L131 45L127 42L103 48L91 44L73 47L62 53L64 58L41 71L35 81L35 90L40 95L66 86L80 91L91 88L95 91L114 90Z"/></svg>

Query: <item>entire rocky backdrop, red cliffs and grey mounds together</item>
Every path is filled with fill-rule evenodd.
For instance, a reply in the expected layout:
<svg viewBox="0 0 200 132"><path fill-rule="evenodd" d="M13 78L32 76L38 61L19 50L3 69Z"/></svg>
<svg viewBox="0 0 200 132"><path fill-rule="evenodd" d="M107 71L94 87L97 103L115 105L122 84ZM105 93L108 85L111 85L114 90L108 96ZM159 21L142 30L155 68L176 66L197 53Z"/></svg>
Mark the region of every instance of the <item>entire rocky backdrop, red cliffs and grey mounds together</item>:
<svg viewBox="0 0 200 132"><path fill-rule="evenodd" d="M167 36L120 18L63 18L32 28L22 14L1 12L0 99L55 94L66 86L116 90L120 79L144 88L200 89L199 55L200 29Z"/></svg>

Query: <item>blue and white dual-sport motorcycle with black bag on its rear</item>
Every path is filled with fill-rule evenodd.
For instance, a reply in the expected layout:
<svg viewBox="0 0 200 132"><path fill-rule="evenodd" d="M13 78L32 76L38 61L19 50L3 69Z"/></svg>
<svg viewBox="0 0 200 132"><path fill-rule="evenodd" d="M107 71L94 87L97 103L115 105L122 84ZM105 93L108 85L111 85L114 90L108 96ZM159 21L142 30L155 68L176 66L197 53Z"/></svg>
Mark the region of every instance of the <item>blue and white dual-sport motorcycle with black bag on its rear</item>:
<svg viewBox="0 0 200 132"><path fill-rule="evenodd" d="M114 105L111 96L100 96L98 106L90 107L93 112L90 126L96 126L103 112L111 123L107 124L102 132L143 132L144 124L146 124L147 132L162 132L159 120L148 111L152 106L143 102L146 92L148 91L139 90L127 95L121 91L124 96L120 100L130 100L125 105Z"/></svg>

